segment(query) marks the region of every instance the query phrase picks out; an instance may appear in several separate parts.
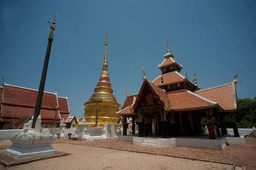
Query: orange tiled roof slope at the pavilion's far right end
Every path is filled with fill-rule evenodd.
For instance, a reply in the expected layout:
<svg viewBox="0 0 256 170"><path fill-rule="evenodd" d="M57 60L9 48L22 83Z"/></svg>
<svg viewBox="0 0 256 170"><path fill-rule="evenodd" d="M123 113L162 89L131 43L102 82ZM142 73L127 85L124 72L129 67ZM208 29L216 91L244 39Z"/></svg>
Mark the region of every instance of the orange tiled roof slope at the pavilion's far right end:
<svg viewBox="0 0 256 170"><path fill-rule="evenodd" d="M235 88L236 87L233 83L229 83L209 89L202 89L196 92L196 94L211 101L218 102L220 107L225 111L234 110L237 109L237 97Z"/></svg>

